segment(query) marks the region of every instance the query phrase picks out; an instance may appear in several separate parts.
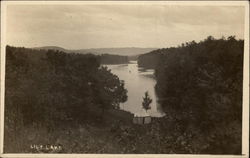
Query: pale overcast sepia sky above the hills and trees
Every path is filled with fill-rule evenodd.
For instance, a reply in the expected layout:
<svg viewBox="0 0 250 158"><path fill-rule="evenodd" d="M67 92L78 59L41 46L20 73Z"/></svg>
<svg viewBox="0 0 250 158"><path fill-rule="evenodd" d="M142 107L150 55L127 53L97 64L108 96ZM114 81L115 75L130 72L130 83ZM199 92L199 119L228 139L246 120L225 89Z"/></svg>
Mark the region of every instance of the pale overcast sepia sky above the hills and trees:
<svg viewBox="0 0 250 158"><path fill-rule="evenodd" d="M170 47L244 37L244 8L174 5L8 5L7 44L67 49Z"/></svg>

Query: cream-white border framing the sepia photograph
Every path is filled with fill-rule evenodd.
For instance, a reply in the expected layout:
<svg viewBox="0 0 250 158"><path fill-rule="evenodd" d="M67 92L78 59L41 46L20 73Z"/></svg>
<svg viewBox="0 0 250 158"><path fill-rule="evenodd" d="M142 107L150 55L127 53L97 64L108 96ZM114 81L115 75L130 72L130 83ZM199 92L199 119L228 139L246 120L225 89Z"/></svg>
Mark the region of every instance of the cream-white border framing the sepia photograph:
<svg viewBox="0 0 250 158"><path fill-rule="evenodd" d="M185 6L244 6L244 63L243 63L243 108L242 108L242 155L192 155L192 154L5 154L4 148L4 90L5 90L5 47L6 47L6 8L8 5L185 5ZM1 1L1 56L0 56L0 157L153 157L153 158L248 158L249 157L249 2L248 1Z"/></svg>

